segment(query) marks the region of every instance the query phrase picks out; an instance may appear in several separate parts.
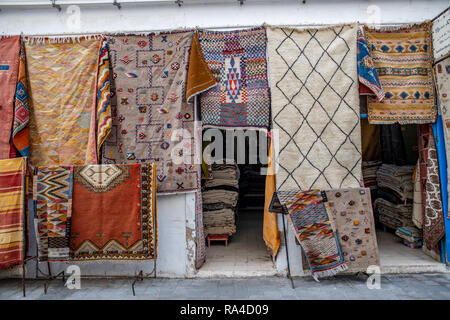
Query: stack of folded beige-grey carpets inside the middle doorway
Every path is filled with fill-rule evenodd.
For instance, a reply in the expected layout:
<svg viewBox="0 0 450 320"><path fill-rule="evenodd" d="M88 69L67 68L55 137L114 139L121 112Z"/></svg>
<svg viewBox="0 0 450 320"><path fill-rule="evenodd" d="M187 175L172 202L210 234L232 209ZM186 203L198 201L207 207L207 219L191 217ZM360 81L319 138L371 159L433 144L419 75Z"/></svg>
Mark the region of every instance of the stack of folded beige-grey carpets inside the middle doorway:
<svg viewBox="0 0 450 320"><path fill-rule="evenodd" d="M205 236L236 233L235 213L239 198L239 168L236 164L213 164L203 192Z"/></svg>

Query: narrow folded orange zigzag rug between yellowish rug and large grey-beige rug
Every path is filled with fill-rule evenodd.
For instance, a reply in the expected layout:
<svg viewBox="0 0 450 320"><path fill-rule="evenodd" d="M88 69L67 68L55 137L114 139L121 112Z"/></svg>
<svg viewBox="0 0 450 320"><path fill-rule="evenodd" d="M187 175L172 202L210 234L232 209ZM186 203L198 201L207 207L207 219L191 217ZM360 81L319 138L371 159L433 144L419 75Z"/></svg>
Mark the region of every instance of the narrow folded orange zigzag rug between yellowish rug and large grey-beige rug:
<svg viewBox="0 0 450 320"><path fill-rule="evenodd" d="M97 71L97 95L95 113L91 114L91 126L89 133L88 150L86 157L89 162L97 163L100 157L100 149L111 132L111 86L109 75L108 42L102 39ZM92 155L96 159L90 159Z"/></svg>

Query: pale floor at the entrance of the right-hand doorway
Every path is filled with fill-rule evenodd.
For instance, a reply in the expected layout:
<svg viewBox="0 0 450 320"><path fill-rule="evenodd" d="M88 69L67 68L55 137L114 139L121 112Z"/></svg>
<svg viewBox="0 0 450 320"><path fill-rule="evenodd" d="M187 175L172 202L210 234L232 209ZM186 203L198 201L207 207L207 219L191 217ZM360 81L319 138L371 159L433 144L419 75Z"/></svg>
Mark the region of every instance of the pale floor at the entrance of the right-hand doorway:
<svg viewBox="0 0 450 320"><path fill-rule="evenodd" d="M433 260L422 249L403 245L392 233L377 230L378 250L383 273L445 272L445 265Z"/></svg>

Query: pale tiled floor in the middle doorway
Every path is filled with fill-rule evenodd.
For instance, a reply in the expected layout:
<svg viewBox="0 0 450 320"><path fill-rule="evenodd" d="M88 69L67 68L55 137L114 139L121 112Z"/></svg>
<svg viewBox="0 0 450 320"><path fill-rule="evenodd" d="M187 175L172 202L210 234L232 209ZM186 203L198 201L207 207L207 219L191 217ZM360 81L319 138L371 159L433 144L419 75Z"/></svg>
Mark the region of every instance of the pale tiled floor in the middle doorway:
<svg viewBox="0 0 450 320"><path fill-rule="evenodd" d="M212 242L206 263L198 277L270 276L276 269L262 239L263 213L241 211L236 218L237 232L228 243Z"/></svg>

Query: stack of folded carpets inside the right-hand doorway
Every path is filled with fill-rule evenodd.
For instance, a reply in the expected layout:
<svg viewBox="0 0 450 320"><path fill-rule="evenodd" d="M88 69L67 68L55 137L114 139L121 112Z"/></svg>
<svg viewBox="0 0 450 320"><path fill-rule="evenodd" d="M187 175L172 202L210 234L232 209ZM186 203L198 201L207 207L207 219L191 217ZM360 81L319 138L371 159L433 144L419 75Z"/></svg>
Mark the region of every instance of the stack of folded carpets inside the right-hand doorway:
<svg viewBox="0 0 450 320"><path fill-rule="evenodd" d="M375 209L379 222L390 229L413 225L413 172L414 166L390 164L383 164L377 171Z"/></svg>

